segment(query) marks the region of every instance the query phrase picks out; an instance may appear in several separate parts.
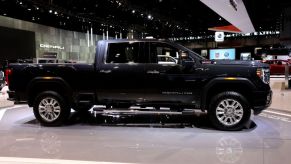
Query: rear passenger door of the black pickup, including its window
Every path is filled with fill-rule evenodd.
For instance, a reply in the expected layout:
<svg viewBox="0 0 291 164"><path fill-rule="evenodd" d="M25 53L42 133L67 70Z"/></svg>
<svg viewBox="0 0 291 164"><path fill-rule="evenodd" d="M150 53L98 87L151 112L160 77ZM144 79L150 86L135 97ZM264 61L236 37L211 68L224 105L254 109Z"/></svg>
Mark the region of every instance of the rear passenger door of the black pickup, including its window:
<svg viewBox="0 0 291 164"><path fill-rule="evenodd" d="M96 67L99 101L138 101L144 86L144 53L140 42L108 43Z"/></svg>

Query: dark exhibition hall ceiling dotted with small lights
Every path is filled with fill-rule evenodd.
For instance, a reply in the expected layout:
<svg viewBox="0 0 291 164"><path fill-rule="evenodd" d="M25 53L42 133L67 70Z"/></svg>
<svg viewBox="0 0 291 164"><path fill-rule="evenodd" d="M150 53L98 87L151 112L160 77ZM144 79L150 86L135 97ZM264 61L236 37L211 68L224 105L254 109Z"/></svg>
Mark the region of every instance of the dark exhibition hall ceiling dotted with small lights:
<svg viewBox="0 0 291 164"><path fill-rule="evenodd" d="M291 4L243 2L256 31L280 30L284 8ZM209 27L229 25L200 0L0 0L0 14L74 31L133 30L159 38L208 35L213 34Z"/></svg>

